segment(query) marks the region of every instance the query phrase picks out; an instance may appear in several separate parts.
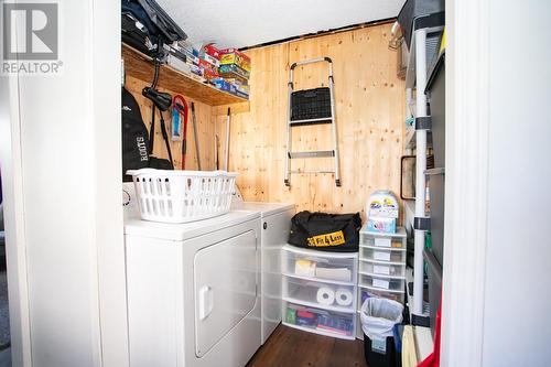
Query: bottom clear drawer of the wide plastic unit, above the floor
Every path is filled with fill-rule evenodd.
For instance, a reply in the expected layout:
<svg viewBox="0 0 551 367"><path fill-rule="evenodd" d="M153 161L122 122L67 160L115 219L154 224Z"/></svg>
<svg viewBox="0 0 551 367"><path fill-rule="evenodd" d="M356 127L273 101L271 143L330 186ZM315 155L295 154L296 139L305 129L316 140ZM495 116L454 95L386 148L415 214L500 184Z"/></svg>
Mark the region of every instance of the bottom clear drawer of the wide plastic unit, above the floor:
<svg viewBox="0 0 551 367"><path fill-rule="evenodd" d="M283 302L283 324L326 336L356 338L356 312L341 313Z"/></svg>

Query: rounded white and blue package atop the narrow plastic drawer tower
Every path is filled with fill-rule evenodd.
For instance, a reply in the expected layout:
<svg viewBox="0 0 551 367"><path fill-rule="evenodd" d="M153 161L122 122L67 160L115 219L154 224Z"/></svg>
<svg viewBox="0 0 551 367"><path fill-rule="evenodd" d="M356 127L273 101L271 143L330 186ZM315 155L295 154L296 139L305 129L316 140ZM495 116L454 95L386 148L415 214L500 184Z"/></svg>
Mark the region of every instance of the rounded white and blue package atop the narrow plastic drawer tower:
<svg viewBox="0 0 551 367"><path fill-rule="evenodd" d="M386 190L378 190L369 196L366 208L367 229L382 234L396 234L399 206L396 196Z"/></svg>

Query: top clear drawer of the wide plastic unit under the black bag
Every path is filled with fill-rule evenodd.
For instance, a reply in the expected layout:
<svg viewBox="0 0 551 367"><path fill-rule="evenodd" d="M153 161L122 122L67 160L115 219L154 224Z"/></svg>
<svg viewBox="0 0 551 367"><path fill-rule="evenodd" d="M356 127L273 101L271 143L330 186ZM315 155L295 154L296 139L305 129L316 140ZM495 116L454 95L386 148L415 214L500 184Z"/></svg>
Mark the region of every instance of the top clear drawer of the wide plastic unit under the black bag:
<svg viewBox="0 0 551 367"><path fill-rule="evenodd" d="M298 278L353 283L356 277L356 253L335 253L283 247L282 273Z"/></svg>

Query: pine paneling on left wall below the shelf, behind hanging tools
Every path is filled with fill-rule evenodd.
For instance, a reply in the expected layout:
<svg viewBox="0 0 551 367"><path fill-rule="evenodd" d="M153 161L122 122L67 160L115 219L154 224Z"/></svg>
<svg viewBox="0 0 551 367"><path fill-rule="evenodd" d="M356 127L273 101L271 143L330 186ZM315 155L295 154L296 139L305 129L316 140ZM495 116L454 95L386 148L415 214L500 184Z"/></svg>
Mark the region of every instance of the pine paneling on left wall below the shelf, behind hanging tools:
<svg viewBox="0 0 551 367"><path fill-rule="evenodd" d="M127 75L126 77L126 88L134 96L138 105L140 106L141 115L148 130L151 126L151 107L152 104L149 99L142 96L141 90L143 87L149 86L150 82L143 82L141 79L131 77ZM179 94L174 90L160 89L161 91L170 93L173 97ZM214 170L214 133L215 127L212 121L212 108L208 105L202 104L201 101L193 100L184 96L185 100L190 107L188 121L187 121L187 153L186 153L186 170L197 170L197 158L195 154L195 140L193 137L193 120L192 120L192 101L195 102L195 114L197 120L197 133L199 136L199 153L201 163L203 170ZM171 137L172 127L172 112L171 109L163 114L166 123L166 132L169 133L169 139ZM171 141L172 158L174 160L174 166L180 170L182 166L182 141ZM155 112L155 141L153 145L153 154L158 158L168 159L168 152L163 136L161 133L161 123L159 119L159 110Z"/></svg>

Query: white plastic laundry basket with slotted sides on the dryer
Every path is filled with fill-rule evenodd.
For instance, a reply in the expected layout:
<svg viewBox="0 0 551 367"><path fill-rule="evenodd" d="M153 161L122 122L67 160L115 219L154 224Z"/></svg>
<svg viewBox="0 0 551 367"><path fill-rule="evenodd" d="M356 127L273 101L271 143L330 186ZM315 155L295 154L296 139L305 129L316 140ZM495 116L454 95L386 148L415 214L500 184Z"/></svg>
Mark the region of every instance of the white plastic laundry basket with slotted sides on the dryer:
<svg viewBox="0 0 551 367"><path fill-rule="evenodd" d="M237 173L141 169L132 175L141 218L186 223L229 212Z"/></svg>

